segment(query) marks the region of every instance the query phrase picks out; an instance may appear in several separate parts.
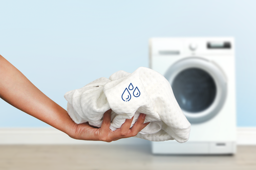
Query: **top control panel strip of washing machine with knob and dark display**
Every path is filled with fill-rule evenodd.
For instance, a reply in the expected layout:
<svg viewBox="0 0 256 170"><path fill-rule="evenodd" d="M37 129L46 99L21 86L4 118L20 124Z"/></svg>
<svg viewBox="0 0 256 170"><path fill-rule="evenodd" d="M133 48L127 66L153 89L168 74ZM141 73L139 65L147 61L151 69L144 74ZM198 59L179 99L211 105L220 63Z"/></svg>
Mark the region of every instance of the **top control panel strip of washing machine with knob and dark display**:
<svg viewBox="0 0 256 170"><path fill-rule="evenodd" d="M231 37L152 38L150 46L152 58L234 55L234 40Z"/></svg>

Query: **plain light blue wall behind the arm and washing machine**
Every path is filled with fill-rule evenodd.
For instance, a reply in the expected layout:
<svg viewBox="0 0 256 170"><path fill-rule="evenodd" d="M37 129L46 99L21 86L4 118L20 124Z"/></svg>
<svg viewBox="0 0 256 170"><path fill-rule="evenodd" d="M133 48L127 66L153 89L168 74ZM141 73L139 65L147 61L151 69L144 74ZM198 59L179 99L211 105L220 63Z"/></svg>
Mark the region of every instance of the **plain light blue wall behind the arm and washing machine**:
<svg viewBox="0 0 256 170"><path fill-rule="evenodd" d="M234 36L238 126L256 126L256 1L1 1L0 54L63 108L63 95L148 66L148 39ZM46 127L0 99L0 127Z"/></svg>

